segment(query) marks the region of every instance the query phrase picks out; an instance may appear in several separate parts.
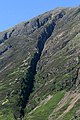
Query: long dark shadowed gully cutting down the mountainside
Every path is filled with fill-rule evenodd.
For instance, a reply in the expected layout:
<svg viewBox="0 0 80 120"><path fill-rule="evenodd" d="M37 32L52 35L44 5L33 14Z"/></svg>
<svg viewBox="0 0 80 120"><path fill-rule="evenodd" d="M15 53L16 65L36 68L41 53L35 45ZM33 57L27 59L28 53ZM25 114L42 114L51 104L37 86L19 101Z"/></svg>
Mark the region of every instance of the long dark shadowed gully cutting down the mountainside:
<svg viewBox="0 0 80 120"><path fill-rule="evenodd" d="M62 18L64 16L64 13L59 13L55 19L51 20L50 23L43 29L41 32L41 35L38 37L37 42L37 52L34 54L30 67L28 69L28 72L26 73L26 78L21 79L21 92L19 94L20 100L18 101L17 106L19 109L15 111L14 118L15 120L22 120L24 117L24 109L28 103L29 96L32 93L33 87L34 87L34 77L36 75L36 67L37 63L40 60L45 42L48 40L48 38L52 35L53 30L55 28L56 22L58 19Z"/></svg>

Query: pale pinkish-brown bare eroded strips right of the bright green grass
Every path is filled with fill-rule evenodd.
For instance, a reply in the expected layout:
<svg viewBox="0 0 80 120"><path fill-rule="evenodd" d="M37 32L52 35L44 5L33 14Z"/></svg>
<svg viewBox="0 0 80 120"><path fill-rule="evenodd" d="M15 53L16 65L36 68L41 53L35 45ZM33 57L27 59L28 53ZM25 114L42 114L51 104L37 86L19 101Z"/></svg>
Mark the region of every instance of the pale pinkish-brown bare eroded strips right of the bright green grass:
<svg viewBox="0 0 80 120"><path fill-rule="evenodd" d="M53 110L53 112L48 117L48 120L53 120L53 115L58 112L62 107L64 107L70 100L70 105L68 108L56 119L60 120L61 117L63 117L66 113L68 113L75 105L75 103L80 99L80 93L77 93L75 91L73 92L67 92L64 96L64 98L58 103L57 107Z"/></svg>

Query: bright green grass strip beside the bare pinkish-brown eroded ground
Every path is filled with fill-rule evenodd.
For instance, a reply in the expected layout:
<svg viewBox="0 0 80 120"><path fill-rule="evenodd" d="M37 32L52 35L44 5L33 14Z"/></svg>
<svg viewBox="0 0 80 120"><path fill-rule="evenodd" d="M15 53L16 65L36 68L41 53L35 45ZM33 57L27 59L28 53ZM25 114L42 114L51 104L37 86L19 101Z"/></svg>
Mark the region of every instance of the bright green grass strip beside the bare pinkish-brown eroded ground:
<svg viewBox="0 0 80 120"><path fill-rule="evenodd" d="M55 109L58 102L64 97L64 92L58 92L44 105L37 108L30 115L28 120L47 120L50 113ZM25 119L26 120L26 119Z"/></svg>

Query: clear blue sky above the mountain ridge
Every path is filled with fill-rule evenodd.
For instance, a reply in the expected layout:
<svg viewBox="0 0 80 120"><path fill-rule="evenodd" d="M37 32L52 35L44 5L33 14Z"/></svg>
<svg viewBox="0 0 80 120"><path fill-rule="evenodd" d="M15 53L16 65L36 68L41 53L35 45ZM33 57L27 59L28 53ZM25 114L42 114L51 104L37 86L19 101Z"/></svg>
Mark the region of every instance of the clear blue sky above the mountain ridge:
<svg viewBox="0 0 80 120"><path fill-rule="evenodd" d="M34 18L56 7L79 6L80 0L20 1L3 0L0 2L0 32L14 25Z"/></svg>

